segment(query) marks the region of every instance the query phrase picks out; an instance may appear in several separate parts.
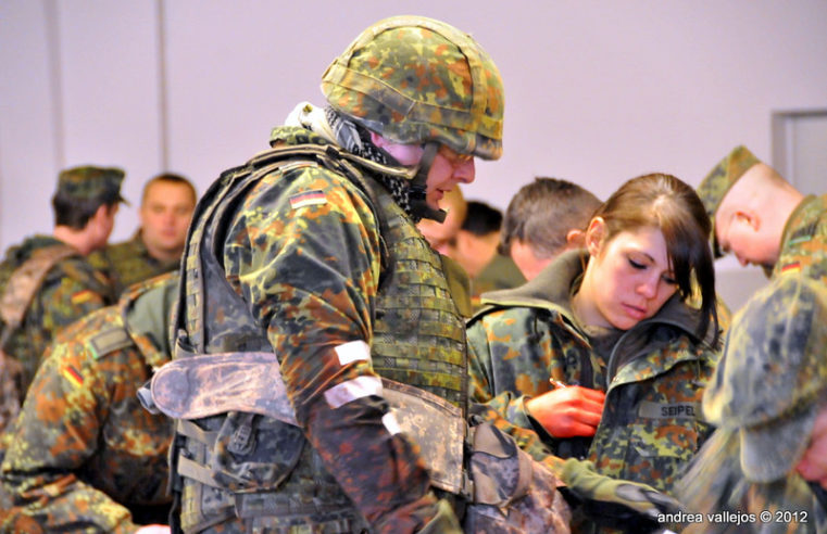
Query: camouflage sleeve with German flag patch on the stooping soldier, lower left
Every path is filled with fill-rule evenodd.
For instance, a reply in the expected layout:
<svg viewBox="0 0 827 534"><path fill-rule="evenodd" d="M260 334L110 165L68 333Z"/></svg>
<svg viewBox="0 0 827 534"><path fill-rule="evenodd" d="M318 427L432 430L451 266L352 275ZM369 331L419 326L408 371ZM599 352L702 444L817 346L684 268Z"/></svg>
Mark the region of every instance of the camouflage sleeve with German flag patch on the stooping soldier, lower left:
<svg viewBox="0 0 827 534"><path fill-rule="evenodd" d="M2 463L8 522L45 532L137 530L129 511L78 476L100 442L109 389L84 343L55 344L26 397ZM7 522L7 524L9 524Z"/></svg>

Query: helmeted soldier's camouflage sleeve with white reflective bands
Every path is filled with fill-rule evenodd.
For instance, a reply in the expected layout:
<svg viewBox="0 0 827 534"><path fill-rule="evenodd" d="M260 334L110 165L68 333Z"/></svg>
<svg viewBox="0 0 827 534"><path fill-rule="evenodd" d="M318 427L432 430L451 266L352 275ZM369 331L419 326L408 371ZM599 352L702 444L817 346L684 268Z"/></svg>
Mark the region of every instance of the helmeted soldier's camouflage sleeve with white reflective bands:
<svg viewBox="0 0 827 534"><path fill-rule="evenodd" d="M268 178L224 240L227 279L267 328L327 470L377 531L417 530L437 501L415 445L390 421L367 348L380 271L373 212L352 183L315 166Z"/></svg>

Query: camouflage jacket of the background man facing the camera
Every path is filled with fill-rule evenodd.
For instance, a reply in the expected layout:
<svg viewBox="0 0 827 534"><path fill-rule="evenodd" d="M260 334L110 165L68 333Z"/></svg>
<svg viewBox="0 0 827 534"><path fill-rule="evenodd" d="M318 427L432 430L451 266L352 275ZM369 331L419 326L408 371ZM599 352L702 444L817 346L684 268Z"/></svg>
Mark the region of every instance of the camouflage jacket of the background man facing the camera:
<svg viewBox="0 0 827 534"><path fill-rule="evenodd" d="M111 280L116 295L143 280L176 270L180 260L162 262L150 256L140 230L131 239L95 251L87 260Z"/></svg>

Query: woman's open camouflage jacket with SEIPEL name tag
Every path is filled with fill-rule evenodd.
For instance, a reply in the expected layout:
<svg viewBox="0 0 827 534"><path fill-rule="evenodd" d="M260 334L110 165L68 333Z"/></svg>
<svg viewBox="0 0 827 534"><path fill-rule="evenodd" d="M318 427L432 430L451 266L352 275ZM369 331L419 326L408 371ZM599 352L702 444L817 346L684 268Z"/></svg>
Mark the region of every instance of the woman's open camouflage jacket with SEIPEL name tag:
<svg viewBox="0 0 827 534"><path fill-rule="evenodd" d="M557 456L584 455L598 473L668 493L710 432L700 402L717 353L696 339L697 314L676 298L597 351L569 307L581 254L562 255L518 290L484 295L490 306L468 323L472 400L536 430ZM527 414L526 398L549 391L549 378L606 392L590 444L555 440Z"/></svg>

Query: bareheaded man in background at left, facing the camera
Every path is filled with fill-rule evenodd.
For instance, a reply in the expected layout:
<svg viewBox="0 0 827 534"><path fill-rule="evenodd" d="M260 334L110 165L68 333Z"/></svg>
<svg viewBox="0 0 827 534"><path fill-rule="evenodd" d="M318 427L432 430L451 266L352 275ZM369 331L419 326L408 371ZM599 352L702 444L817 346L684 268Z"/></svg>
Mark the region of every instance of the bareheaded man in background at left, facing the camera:
<svg viewBox="0 0 827 534"><path fill-rule="evenodd" d="M112 280L118 295L129 285L177 269L196 201L196 188L183 176L153 177L143 186L138 231L93 252L89 263Z"/></svg>

